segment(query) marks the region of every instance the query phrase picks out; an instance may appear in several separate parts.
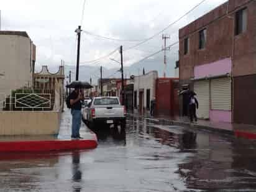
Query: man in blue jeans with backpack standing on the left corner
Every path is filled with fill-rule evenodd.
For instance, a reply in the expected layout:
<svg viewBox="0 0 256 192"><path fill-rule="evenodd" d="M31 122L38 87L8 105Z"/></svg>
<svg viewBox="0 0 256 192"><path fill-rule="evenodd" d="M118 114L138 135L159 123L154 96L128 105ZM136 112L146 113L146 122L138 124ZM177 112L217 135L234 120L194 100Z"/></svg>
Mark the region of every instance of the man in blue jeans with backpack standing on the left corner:
<svg viewBox="0 0 256 192"><path fill-rule="evenodd" d="M70 105L72 114L72 139L82 139L80 137L80 126L81 126L81 107L84 99L82 90L76 86L75 90L70 94Z"/></svg>

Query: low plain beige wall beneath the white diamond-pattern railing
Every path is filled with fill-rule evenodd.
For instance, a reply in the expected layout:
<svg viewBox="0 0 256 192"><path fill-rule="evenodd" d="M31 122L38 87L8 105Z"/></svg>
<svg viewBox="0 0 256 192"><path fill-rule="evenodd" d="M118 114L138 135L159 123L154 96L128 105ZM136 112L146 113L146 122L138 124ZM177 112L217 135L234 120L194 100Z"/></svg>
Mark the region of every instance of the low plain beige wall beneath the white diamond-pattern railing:
<svg viewBox="0 0 256 192"><path fill-rule="evenodd" d="M0 135L55 135L58 111L0 111Z"/></svg>

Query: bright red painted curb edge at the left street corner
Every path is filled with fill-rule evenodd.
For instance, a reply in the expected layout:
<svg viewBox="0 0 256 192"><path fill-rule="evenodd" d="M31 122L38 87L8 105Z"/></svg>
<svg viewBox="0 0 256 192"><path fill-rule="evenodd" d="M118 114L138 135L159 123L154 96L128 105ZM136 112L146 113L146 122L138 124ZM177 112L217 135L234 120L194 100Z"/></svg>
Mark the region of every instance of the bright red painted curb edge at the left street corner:
<svg viewBox="0 0 256 192"><path fill-rule="evenodd" d="M0 142L0 152L45 152L58 150L94 149L97 140L27 140Z"/></svg>

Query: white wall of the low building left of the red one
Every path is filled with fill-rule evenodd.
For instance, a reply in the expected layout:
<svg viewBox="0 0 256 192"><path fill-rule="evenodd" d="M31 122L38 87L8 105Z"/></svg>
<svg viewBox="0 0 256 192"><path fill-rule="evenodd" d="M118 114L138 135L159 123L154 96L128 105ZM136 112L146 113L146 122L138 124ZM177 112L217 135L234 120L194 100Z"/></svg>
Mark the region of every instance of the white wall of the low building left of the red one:
<svg viewBox="0 0 256 192"><path fill-rule="evenodd" d="M157 71L150 71L145 75L135 76L134 91L137 91L137 109L139 109L140 89L144 89L144 110L147 107L147 89L150 89L150 101L155 98L155 88L156 88L157 78L158 78Z"/></svg>

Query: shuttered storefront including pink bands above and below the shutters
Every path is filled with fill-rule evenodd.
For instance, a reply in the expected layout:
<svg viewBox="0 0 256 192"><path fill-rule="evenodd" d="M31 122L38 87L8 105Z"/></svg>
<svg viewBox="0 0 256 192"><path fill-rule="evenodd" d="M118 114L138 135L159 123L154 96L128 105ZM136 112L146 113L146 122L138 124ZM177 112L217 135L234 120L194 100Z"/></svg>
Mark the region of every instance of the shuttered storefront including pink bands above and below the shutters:
<svg viewBox="0 0 256 192"><path fill-rule="evenodd" d="M231 58L194 67L199 119L232 122Z"/></svg>

